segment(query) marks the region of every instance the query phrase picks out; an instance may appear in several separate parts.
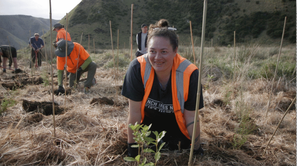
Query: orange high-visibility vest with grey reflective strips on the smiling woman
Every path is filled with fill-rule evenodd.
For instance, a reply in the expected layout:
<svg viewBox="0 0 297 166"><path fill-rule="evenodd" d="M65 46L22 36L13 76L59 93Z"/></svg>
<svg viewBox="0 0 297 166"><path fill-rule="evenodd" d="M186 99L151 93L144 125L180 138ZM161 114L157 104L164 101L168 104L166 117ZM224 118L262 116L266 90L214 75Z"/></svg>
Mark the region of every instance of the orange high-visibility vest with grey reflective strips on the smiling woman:
<svg viewBox="0 0 297 166"><path fill-rule="evenodd" d="M149 97L154 82L154 68L149 62L148 54L137 57L140 63L141 78L144 86L143 102L141 103L141 123L144 119L144 107ZM181 132L190 139L184 118L184 102L188 99L190 76L194 70L198 69L189 60L181 57L179 54L173 59L171 69L171 89L173 110Z"/></svg>

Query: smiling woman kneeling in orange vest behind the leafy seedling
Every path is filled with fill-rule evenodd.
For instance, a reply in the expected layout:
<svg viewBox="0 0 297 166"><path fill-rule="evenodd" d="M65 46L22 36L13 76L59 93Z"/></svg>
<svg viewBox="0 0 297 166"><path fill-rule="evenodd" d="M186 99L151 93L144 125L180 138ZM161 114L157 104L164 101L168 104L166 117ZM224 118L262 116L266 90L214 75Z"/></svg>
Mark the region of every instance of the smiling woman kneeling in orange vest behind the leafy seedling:
<svg viewBox="0 0 297 166"><path fill-rule="evenodd" d="M148 53L134 59L127 70L121 94L129 99L128 124L151 125L151 131L166 131L162 141L170 150L189 149L194 128L198 68L177 54L178 38L167 20L150 25ZM200 85L201 86L201 85ZM199 109L203 108L200 93ZM200 124L194 136L194 154L203 155ZM128 155L138 155L128 127ZM151 134L149 137L154 137Z"/></svg>

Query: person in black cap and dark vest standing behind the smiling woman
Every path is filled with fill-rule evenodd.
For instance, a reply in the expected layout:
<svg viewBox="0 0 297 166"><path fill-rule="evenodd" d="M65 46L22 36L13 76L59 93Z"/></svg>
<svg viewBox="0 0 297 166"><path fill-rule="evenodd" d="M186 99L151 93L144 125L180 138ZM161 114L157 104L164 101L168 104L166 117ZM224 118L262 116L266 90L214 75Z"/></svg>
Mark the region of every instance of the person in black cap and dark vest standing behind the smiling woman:
<svg viewBox="0 0 297 166"><path fill-rule="evenodd" d="M148 53L147 48L146 48L146 40L147 40L147 34L148 34L148 26L146 24L141 25L141 30L140 32L137 33L136 35L136 43L138 45L138 49L136 52L136 57L139 57L143 54Z"/></svg>

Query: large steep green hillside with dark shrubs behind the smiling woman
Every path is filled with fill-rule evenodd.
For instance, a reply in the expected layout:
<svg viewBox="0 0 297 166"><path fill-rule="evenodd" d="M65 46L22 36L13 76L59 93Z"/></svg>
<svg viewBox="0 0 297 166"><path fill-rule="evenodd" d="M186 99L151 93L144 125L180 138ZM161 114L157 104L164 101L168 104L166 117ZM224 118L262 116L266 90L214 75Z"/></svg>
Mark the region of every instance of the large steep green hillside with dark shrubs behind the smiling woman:
<svg viewBox="0 0 297 166"><path fill-rule="evenodd" d="M206 42L213 38L214 45L245 42L255 39L275 42L282 35L285 16L287 16L285 42L296 42L296 1L282 0L213 0L208 1L206 18ZM201 36L203 0L82 0L68 17L68 31L73 41L98 49L110 49L110 24L113 44L129 46L131 29L131 4L133 7L133 48L136 48L136 33L143 23L152 24L161 18L168 19L177 28L180 36L190 35L189 21L192 21L194 37ZM66 25L66 17L61 20ZM46 34L47 40L49 33ZM56 32L53 32L53 40ZM277 40L279 41L279 40ZM115 47L114 47L115 48Z"/></svg>

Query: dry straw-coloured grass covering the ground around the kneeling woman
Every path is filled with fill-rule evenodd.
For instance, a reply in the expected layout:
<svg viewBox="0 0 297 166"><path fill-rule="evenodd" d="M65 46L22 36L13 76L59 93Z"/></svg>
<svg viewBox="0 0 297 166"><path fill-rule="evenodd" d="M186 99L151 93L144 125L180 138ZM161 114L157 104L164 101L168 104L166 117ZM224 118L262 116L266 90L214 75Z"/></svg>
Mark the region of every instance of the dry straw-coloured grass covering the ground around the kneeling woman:
<svg viewBox="0 0 297 166"><path fill-rule="evenodd" d="M228 48L219 48L222 51ZM24 59L18 59L21 69L31 76ZM45 63L36 75L45 73ZM218 70L218 69L216 69ZM122 85L124 71L117 75ZM12 74L0 73L1 81L10 81ZM18 103L9 107L0 117L0 165L136 165L126 162L128 100L115 88L114 70L97 69L97 84L90 94L82 89L72 90L66 99L67 112L55 116L56 137L52 116L26 113L22 100L52 101L51 86L27 85L11 91L0 86L0 96L14 98ZM83 77L82 77L83 78ZM271 81L238 79L233 96L232 79L203 78L204 105L200 110L201 142L204 157L194 156L194 165L296 165L296 105L288 112L272 136L286 108L296 96L296 82L278 80L274 85L271 107L267 118L268 94ZM54 88L57 81L54 78ZM116 95L116 93L118 93ZM90 104L94 98L107 97L115 104ZM55 102L64 108L64 96L55 96ZM239 148L234 137L242 125L243 115L250 117L249 124L256 126ZM145 154L154 162L154 155ZM189 151L165 151L158 165L187 165Z"/></svg>

